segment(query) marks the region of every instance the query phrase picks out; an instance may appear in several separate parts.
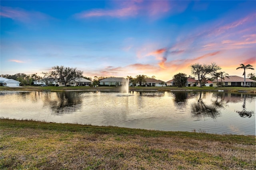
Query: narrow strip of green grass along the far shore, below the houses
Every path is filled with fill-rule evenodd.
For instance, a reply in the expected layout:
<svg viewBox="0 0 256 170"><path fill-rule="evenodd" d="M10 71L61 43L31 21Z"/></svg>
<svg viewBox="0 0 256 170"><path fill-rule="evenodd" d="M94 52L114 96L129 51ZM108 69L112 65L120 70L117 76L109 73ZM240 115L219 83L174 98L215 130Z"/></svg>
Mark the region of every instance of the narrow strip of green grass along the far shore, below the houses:
<svg viewBox="0 0 256 170"><path fill-rule="evenodd" d="M24 86L24 87L0 87L0 90L26 90L26 91L63 91L63 90L117 90L120 91L122 87L40 87L40 86ZM256 87L129 87L129 90L158 90L158 91L171 91L171 90L195 90L195 91L247 91L250 93L256 93Z"/></svg>

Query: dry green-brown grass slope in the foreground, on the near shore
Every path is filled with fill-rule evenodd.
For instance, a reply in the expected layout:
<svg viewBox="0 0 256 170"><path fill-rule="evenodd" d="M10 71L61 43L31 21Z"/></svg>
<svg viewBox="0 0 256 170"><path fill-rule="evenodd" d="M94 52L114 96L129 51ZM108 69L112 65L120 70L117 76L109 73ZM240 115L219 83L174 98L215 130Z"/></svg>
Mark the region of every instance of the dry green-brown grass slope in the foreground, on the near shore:
<svg viewBox="0 0 256 170"><path fill-rule="evenodd" d="M255 136L0 120L0 169L255 169Z"/></svg>

